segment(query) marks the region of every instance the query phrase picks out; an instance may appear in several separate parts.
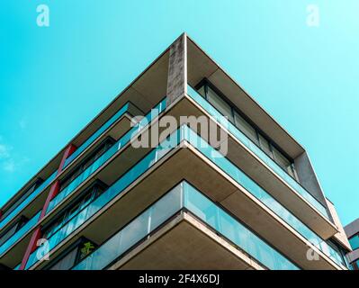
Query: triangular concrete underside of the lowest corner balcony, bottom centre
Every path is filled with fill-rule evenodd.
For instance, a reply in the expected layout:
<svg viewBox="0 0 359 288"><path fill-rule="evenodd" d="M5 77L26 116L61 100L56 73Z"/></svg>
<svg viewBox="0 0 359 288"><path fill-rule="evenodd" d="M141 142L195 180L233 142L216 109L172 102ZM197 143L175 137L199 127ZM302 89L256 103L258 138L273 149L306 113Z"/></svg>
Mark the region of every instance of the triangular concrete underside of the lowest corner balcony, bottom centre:
<svg viewBox="0 0 359 288"><path fill-rule="evenodd" d="M109 270L264 270L191 214L170 220Z"/></svg>

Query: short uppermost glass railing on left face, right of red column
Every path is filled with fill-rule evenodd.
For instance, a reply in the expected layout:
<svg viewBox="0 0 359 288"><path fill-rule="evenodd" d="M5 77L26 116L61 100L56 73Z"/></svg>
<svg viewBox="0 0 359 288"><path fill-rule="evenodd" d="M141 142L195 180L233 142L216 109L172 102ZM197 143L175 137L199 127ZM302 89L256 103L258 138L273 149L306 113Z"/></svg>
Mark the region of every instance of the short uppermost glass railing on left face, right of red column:
<svg viewBox="0 0 359 288"><path fill-rule="evenodd" d="M85 148L89 147L95 139L99 138L105 130L107 130L115 121L119 120L121 116L124 115L125 112L128 112L130 103L125 103L121 109L116 112L108 121L106 121L103 126L101 126L98 130L94 132L88 139L85 140L85 142L79 147L76 148L75 152L72 153L64 163L64 168L70 164L78 155L80 155Z"/></svg>

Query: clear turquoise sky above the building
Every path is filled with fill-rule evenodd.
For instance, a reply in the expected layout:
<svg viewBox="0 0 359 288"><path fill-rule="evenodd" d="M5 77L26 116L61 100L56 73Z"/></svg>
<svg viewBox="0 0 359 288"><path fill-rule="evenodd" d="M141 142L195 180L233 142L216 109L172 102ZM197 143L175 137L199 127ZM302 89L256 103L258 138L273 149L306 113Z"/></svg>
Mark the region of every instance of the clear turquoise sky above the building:
<svg viewBox="0 0 359 288"><path fill-rule="evenodd" d="M186 31L308 150L343 223L355 220L358 14L357 0L2 0L0 205Z"/></svg>

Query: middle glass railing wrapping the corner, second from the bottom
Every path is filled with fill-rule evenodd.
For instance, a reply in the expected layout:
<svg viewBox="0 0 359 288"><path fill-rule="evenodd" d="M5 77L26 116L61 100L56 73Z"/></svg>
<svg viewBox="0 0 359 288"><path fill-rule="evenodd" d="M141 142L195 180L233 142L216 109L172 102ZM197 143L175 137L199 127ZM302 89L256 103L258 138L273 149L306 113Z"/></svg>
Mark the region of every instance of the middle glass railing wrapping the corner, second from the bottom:
<svg viewBox="0 0 359 288"><path fill-rule="evenodd" d="M130 168L130 170L121 176L112 186L107 189L101 196L99 196L94 202L89 204L83 211L80 211L73 219L69 220L63 228L53 234L49 238L49 251L56 247L62 240L68 237L75 229L80 227L86 220L94 215L96 211L99 211L107 202L110 202L115 196L121 193L126 187L133 183L140 175L145 173L151 166L153 166L159 159L164 157L170 150L178 146L182 141L186 140L197 148L204 157L207 157L215 165L219 166L222 171L234 179L238 184L241 184L247 189L249 193L252 193L256 198L263 202L269 209L274 211L280 218L296 229L304 238L307 238L313 245L319 247L319 249L331 257L339 265L345 264L342 262L341 257L337 254L332 247L319 238L313 231L305 226L301 220L298 220L292 213L286 210L282 204L277 202L269 193L266 193L256 182L250 179L244 174L237 166L234 166L226 157L223 157L220 152L212 148L207 142L199 137L193 130L187 126L182 126L181 129L176 130L171 134L166 141L163 141L160 146L154 148L148 155L138 164ZM35 250L28 261L27 268L31 267L38 261L37 250Z"/></svg>

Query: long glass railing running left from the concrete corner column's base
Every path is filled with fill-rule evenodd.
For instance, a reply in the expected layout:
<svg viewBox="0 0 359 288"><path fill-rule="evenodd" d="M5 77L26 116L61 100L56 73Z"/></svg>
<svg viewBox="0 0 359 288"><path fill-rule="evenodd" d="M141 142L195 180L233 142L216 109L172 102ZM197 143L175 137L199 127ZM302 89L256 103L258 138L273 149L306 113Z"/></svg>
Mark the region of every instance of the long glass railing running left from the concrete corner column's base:
<svg viewBox="0 0 359 288"><path fill-rule="evenodd" d="M85 179L87 179L90 175L93 175L94 172L105 163L110 157L112 157L119 149L125 146L130 142L130 139L140 130L142 130L146 125L151 122L154 118L157 117L158 114L164 112L166 109L166 98L163 99L157 106L148 112L148 114L139 121L135 126L133 126L129 131L127 131L121 139L119 139L111 148L109 148L103 155L97 158L91 166L88 166L85 171L78 175L71 183L69 183L65 188L61 190L58 195L49 202L49 207L47 213L52 211L59 202L64 200L67 195L72 193L80 184L82 184Z"/></svg>

